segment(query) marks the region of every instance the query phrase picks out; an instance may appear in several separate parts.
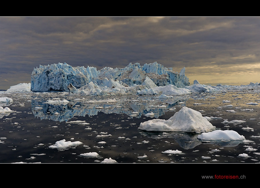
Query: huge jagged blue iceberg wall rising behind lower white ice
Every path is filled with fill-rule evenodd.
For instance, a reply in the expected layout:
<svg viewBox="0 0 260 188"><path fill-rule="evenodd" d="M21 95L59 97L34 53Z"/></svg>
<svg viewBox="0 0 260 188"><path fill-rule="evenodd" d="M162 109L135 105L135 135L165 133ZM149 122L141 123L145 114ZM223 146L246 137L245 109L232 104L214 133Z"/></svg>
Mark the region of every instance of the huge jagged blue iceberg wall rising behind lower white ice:
<svg viewBox="0 0 260 188"><path fill-rule="evenodd" d="M125 87L144 85L147 89L170 84L181 88L189 85L185 68L178 74L172 68L165 68L157 62L144 64L144 66L130 63L125 68L105 67L101 70L89 66L72 67L67 63L58 63L34 68L31 75L31 91L69 91L67 88L69 84L79 89L91 82L98 86L110 87L107 85L109 80ZM117 83L116 87L120 88Z"/></svg>

